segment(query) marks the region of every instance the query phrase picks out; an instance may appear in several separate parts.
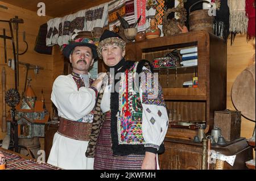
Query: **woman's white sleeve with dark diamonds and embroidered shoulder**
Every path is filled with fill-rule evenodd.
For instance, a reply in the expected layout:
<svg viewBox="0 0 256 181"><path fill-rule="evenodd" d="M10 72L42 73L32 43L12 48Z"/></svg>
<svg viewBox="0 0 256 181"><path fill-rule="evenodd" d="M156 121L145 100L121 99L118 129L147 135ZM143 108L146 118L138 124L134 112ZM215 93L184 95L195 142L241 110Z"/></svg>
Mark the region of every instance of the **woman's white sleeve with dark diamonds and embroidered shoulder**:
<svg viewBox="0 0 256 181"><path fill-rule="evenodd" d="M145 150L157 153L166 136L169 123L166 104L157 77L144 67L140 77L139 94L143 107L142 133L146 142Z"/></svg>

